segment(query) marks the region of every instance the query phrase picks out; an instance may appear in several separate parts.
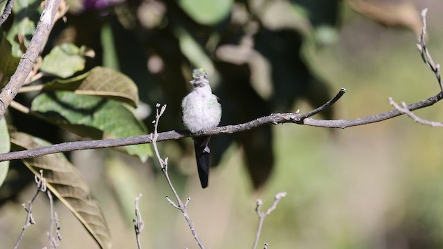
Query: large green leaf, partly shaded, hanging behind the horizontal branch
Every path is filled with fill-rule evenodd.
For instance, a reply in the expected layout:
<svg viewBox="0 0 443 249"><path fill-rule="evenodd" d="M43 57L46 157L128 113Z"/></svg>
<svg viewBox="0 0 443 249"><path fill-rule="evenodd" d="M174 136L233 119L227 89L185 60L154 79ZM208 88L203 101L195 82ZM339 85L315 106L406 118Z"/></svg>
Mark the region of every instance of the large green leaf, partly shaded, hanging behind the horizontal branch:
<svg viewBox="0 0 443 249"><path fill-rule="evenodd" d="M38 95L31 109L69 131L93 139L125 138L147 133L144 124L134 116L132 107L116 100L56 91ZM151 155L146 144L125 146L125 151L138 156L143 162Z"/></svg>

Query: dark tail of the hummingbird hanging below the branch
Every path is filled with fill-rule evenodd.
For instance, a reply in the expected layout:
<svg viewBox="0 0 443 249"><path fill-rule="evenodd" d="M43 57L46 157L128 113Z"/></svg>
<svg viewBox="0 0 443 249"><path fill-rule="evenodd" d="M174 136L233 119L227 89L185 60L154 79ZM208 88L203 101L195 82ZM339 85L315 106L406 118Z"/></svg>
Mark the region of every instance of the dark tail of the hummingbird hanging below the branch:
<svg viewBox="0 0 443 249"><path fill-rule="evenodd" d="M199 172L199 178L201 187L208 187L209 177L209 139L207 137L194 138L195 158L197 159L197 170Z"/></svg>

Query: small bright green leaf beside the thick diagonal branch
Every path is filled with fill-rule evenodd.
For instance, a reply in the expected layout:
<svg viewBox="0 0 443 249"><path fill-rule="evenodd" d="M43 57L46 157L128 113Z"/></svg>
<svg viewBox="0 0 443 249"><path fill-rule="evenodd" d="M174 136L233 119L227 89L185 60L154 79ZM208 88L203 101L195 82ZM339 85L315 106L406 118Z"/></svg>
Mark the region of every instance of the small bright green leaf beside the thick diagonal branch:
<svg viewBox="0 0 443 249"><path fill-rule="evenodd" d="M83 51L69 42L56 46L43 59L40 70L66 78L84 69L86 60Z"/></svg>

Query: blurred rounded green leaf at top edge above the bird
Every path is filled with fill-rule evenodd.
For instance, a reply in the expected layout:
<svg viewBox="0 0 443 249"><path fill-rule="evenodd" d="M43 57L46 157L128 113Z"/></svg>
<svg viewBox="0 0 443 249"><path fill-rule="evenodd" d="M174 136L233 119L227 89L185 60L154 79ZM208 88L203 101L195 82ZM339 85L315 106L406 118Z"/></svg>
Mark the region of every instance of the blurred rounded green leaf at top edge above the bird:
<svg viewBox="0 0 443 249"><path fill-rule="evenodd" d="M233 0L180 0L179 6L197 23L215 25L228 17Z"/></svg>

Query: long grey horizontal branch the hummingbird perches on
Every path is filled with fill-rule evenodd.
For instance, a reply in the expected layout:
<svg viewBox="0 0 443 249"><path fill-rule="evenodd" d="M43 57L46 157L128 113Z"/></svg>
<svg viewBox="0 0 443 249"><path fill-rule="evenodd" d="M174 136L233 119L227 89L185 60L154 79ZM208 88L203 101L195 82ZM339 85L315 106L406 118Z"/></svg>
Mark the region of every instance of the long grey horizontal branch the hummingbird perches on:
<svg viewBox="0 0 443 249"><path fill-rule="evenodd" d="M334 99L341 97L344 91L341 89ZM422 100L408 105L408 109L413 111L417 109L422 109L424 107L429 107L438 101L442 100L443 93L440 92L437 95L428 98L427 100ZM322 107L324 107L323 105ZM320 107L321 108L321 107ZM323 110L323 109L322 109ZM356 118L352 120L316 120L313 118L307 118L311 116L311 112L300 114L300 113L274 113L270 116L265 116L262 118L257 118L250 122L236 125L226 125L224 127L215 127L213 129L208 129L204 132L198 134L192 134L192 136L206 136L206 135L218 135L226 133L236 133L240 131L247 131L260 127L266 124L283 124L283 123L294 123L294 124L305 124L314 127L327 127L327 128L347 128L354 127L363 124L370 124L374 122L381 122L383 120L388 120L390 118L395 118L402 115L401 111L394 109L385 113L379 113L373 116L368 116L365 118ZM186 138L190 136L188 130L173 130L157 133L157 142L165 140L177 140L181 138ZM39 147L36 149L28 149L24 151L13 151L8 153L0 154L0 162L6 160L17 160L26 158L35 158L37 156L44 156L48 154L55 154L59 152L75 151L83 149L101 149L109 147L120 147L126 145L139 145L144 143L152 143L152 133L142 136L134 136L130 138L114 138L114 139L102 139L102 140L89 140L89 141L76 141L76 142L62 142L57 145L48 145L45 147Z"/></svg>

